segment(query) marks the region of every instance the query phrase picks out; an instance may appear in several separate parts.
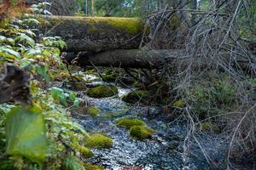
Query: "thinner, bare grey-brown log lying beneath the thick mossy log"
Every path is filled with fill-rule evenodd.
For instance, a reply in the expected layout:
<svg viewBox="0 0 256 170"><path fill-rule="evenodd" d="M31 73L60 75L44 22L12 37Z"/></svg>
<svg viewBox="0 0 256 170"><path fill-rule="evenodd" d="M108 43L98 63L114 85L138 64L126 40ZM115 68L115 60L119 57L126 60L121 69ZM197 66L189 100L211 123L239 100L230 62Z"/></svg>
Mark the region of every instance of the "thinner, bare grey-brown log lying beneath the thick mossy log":
<svg viewBox="0 0 256 170"><path fill-rule="evenodd" d="M224 54L221 59L226 67L241 68L249 71L255 62L253 60L241 59L236 56L236 60L230 54ZM203 54L192 55L185 52L184 49L117 49L101 53L80 53L75 63L85 67L86 65L95 66L113 66L120 68L168 68L172 71L183 71L188 67L193 70L202 70L204 68L218 68L219 60L211 57L205 57ZM254 73L253 73L254 74Z"/></svg>

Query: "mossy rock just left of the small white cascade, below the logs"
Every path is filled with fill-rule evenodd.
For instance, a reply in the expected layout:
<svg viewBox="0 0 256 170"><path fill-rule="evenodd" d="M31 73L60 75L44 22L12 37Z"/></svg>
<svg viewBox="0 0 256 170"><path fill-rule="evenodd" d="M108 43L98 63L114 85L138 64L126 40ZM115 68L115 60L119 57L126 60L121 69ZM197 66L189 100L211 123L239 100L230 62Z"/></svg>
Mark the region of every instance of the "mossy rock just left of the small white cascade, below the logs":
<svg viewBox="0 0 256 170"><path fill-rule="evenodd" d="M118 88L115 86L100 85L96 88L90 88L86 91L86 94L91 98L106 98L111 97L118 93Z"/></svg>

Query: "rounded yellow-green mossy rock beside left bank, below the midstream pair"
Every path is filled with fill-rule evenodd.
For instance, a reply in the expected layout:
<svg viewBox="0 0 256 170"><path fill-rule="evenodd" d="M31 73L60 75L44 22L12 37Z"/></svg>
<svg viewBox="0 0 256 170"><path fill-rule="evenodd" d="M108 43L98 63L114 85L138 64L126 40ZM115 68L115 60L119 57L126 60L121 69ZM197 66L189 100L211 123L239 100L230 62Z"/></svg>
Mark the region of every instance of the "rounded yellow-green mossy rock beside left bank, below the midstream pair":
<svg viewBox="0 0 256 170"><path fill-rule="evenodd" d="M94 133L90 136L89 139L86 139L85 146L89 148L103 149L103 148L111 148L113 145L113 140L108 136Z"/></svg>

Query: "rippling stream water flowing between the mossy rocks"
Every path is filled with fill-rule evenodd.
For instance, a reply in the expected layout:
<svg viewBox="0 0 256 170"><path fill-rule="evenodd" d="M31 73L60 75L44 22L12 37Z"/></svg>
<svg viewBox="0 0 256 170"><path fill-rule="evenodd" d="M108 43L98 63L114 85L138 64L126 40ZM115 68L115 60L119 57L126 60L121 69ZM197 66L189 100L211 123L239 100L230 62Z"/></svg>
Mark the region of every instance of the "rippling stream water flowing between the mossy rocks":
<svg viewBox="0 0 256 170"><path fill-rule="evenodd" d="M94 82L93 75L84 76L91 80L91 85L104 84ZM108 84L108 83L107 83ZM186 122L168 122L163 111L157 106L141 106L125 103L121 96L131 89L119 87L118 95L102 99L94 99L78 92L88 105L101 110L99 116L74 114L73 119L79 122L88 132L106 133L113 139L110 149L94 149L90 163L113 170L151 170L151 169L219 169L214 164L224 158L224 144L213 134L197 133L196 140L186 141ZM115 121L119 118L136 117L154 129L152 139L143 141L132 139L129 131L117 127ZM184 147L186 145L186 147ZM200 147L199 147L200 145ZM205 151L202 153L201 149ZM206 156L208 156L208 161ZM219 165L218 165L219 166Z"/></svg>

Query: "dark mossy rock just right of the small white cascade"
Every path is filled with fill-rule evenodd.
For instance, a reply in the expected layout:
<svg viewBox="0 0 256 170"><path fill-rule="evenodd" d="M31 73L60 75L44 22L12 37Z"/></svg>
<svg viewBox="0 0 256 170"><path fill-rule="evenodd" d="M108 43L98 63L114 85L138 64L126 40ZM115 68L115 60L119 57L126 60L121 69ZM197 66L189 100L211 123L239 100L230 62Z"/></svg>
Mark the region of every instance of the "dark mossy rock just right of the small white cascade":
<svg viewBox="0 0 256 170"><path fill-rule="evenodd" d="M130 92L122 97L122 100L128 103L136 103L139 100L145 101L150 98L150 94L145 90L136 90L135 92Z"/></svg>

